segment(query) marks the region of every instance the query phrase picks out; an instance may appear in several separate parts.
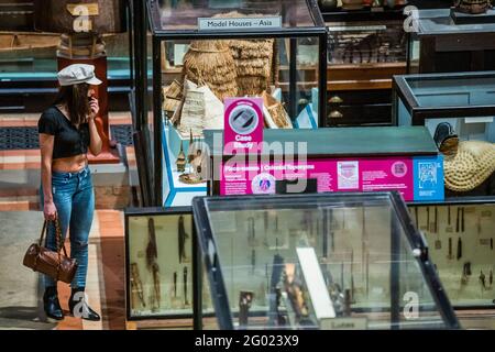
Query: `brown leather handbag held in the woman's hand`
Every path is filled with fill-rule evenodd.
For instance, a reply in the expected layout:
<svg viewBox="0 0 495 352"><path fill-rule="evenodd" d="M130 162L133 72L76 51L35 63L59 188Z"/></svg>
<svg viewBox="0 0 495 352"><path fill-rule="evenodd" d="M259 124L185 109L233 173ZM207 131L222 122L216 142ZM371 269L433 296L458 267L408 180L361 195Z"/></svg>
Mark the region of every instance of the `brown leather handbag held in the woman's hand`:
<svg viewBox="0 0 495 352"><path fill-rule="evenodd" d="M34 272L40 272L42 274L48 275L54 280L61 280L67 284L74 278L77 270L77 261L75 258L70 258L67 255L65 250L65 245L62 242L62 231L58 224L58 219L55 222L55 238L56 238L56 246L57 251L51 251L43 246L43 238L45 233L48 232L48 221L45 220L43 223L43 230L40 237L38 243L33 243L28 249L28 252L24 255L23 264ZM64 254L62 254L64 251Z"/></svg>

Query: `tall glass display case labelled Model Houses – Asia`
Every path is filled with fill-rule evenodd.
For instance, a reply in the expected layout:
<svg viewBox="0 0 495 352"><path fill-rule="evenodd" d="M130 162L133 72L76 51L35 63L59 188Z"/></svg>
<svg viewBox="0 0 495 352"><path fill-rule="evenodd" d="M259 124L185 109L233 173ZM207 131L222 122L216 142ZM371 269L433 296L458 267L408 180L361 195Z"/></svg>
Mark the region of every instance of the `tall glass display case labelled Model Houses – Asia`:
<svg viewBox="0 0 495 352"><path fill-rule="evenodd" d="M187 158L190 141L223 127L227 97L262 97L265 123L279 129L324 124L327 32L316 0L148 0L147 12L158 198L165 183L188 193L166 169L182 169L180 151Z"/></svg>

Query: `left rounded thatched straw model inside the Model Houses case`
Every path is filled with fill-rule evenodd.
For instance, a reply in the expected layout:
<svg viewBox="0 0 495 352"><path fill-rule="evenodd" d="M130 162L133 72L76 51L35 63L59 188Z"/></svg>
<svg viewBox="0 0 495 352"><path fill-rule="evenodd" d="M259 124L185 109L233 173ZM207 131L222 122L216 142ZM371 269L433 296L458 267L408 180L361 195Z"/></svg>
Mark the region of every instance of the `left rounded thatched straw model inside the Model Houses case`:
<svg viewBox="0 0 495 352"><path fill-rule="evenodd" d="M206 82L221 101L238 96L235 64L226 41L191 42L183 74L197 85Z"/></svg>

